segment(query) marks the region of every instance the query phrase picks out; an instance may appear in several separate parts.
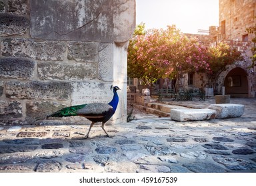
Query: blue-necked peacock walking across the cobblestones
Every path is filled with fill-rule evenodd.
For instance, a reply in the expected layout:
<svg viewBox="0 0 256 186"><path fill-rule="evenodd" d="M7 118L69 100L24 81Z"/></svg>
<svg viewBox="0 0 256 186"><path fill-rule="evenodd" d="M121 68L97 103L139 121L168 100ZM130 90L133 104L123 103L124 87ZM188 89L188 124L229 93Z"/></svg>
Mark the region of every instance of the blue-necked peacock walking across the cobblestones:
<svg viewBox="0 0 256 186"><path fill-rule="evenodd" d="M50 114L47 118L50 117L68 117L68 116L83 116L91 121L89 131L87 132L86 138L89 138L89 133L93 125L97 122L102 122L101 128L107 134L104 129L105 123L115 114L117 110L117 105L119 102L119 97L117 90L121 90L118 86L111 86L110 90L113 89L113 98L108 104L104 103L91 103L91 104L81 104L75 106L69 106L58 110L57 112ZM109 134L107 137L111 138Z"/></svg>

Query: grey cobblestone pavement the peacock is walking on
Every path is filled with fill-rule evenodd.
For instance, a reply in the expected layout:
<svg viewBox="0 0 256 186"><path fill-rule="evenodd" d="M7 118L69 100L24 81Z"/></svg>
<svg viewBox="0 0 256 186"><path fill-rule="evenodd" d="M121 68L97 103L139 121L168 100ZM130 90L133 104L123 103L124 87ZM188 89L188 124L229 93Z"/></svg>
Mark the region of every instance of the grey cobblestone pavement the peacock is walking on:
<svg viewBox="0 0 256 186"><path fill-rule="evenodd" d="M245 105L241 118L175 122L137 112L137 120L105 127L113 138L95 125L84 139L89 123L75 118L0 126L0 172L256 172L256 99L231 103Z"/></svg>

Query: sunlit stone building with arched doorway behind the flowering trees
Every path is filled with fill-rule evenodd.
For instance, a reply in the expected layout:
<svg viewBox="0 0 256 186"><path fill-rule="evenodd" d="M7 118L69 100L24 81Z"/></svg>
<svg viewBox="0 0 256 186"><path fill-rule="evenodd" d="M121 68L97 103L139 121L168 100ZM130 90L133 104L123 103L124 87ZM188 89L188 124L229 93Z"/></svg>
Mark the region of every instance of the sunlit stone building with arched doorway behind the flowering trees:
<svg viewBox="0 0 256 186"><path fill-rule="evenodd" d="M219 0L219 27L209 27L209 35L188 35L198 37L199 41L209 45L216 45L225 41L237 48L244 56L243 61L237 61L221 72L217 80L216 94L221 94L225 87L225 94L233 97L256 97L256 68L248 68L251 64L253 34L246 31L247 27L256 25L256 0ZM205 74L187 74L184 79L185 88L200 88L207 86Z"/></svg>

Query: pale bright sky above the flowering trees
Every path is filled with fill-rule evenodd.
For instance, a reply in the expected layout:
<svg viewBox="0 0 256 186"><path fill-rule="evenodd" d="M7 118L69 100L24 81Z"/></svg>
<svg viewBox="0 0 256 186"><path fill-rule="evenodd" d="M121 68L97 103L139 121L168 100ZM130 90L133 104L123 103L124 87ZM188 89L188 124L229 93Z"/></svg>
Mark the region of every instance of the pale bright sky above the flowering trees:
<svg viewBox="0 0 256 186"><path fill-rule="evenodd" d="M136 0L136 24L145 29L176 25L183 33L219 25L219 0Z"/></svg>

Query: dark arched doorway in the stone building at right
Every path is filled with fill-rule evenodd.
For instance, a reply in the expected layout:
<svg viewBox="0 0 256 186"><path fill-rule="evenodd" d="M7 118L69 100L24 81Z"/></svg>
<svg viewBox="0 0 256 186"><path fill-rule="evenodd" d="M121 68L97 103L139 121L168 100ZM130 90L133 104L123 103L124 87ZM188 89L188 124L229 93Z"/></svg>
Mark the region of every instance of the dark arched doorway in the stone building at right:
<svg viewBox="0 0 256 186"><path fill-rule="evenodd" d="M225 77L225 94L231 97L248 98L248 74L243 68L233 68Z"/></svg>

